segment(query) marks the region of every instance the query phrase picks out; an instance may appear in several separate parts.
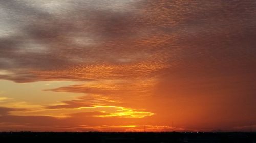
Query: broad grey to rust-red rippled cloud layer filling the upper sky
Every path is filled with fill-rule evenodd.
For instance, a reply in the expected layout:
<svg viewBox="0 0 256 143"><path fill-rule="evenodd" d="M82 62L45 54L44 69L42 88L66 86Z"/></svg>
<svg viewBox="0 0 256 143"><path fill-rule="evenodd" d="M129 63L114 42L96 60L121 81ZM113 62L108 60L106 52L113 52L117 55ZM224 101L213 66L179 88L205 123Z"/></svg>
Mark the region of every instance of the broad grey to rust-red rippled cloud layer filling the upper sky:
<svg viewBox="0 0 256 143"><path fill-rule="evenodd" d="M40 80L30 70L141 61L171 72L255 71L254 1L0 3L0 68L14 73L3 79L30 82Z"/></svg>

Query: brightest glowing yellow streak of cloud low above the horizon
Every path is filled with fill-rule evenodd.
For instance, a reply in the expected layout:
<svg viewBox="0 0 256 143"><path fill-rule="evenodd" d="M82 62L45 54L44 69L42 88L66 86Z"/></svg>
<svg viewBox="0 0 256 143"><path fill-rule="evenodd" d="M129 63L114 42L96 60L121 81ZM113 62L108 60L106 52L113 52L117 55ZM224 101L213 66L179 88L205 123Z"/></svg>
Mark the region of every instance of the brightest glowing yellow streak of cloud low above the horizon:
<svg viewBox="0 0 256 143"><path fill-rule="evenodd" d="M117 118L144 118L146 116L152 116L154 113L147 112L144 110L136 110L131 108L125 108L121 106L106 106L106 105L93 105L90 107L77 107L65 108L66 106L48 106L46 109L38 110L38 111L13 111L12 115L41 115L41 116L52 116L56 118L67 118L72 115L79 115L80 113L90 113L94 112L99 113L96 115L92 115L92 117L117 117Z"/></svg>

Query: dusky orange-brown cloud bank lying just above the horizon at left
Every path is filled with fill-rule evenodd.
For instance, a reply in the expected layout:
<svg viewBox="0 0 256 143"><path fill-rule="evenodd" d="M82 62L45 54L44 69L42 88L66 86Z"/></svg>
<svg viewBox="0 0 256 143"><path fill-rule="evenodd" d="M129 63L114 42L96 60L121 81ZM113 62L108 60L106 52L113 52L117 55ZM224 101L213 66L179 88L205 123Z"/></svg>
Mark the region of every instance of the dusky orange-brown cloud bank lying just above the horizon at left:
<svg viewBox="0 0 256 143"><path fill-rule="evenodd" d="M131 121L130 118L102 118L94 115L104 115L104 113L74 113L67 118L39 115L2 115L0 116L0 125L1 131L106 131L110 128L113 128L113 131L124 131L123 129L139 127L120 125L120 121L132 124L134 121Z"/></svg>

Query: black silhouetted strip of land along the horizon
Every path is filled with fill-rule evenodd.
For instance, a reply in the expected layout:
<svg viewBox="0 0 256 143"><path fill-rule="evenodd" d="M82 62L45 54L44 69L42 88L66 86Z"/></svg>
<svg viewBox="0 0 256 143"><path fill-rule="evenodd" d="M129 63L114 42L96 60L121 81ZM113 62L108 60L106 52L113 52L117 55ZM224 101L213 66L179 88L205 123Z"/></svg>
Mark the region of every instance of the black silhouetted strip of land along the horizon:
<svg viewBox="0 0 256 143"><path fill-rule="evenodd" d="M255 142L256 133L2 132L0 142Z"/></svg>

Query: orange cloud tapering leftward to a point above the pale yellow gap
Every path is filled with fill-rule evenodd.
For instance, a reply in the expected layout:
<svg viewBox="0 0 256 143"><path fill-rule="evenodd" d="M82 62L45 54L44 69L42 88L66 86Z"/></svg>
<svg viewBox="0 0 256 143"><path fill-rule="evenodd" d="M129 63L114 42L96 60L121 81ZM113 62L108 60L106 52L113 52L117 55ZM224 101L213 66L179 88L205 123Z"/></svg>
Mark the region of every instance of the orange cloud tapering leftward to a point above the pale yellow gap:
<svg viewBox="0 0 256 143"><path fill-rule="evenodd" d="M151 88L154 87L156 81L152 79L144 80L101 80L88 81L80 85L70 85L67 87L59 87L56 89L47 89L45 91L54 92L71 92L85 93L91 95L110 95L115 96L122 94L130 94L130 96L145 96Z"/></svg>

